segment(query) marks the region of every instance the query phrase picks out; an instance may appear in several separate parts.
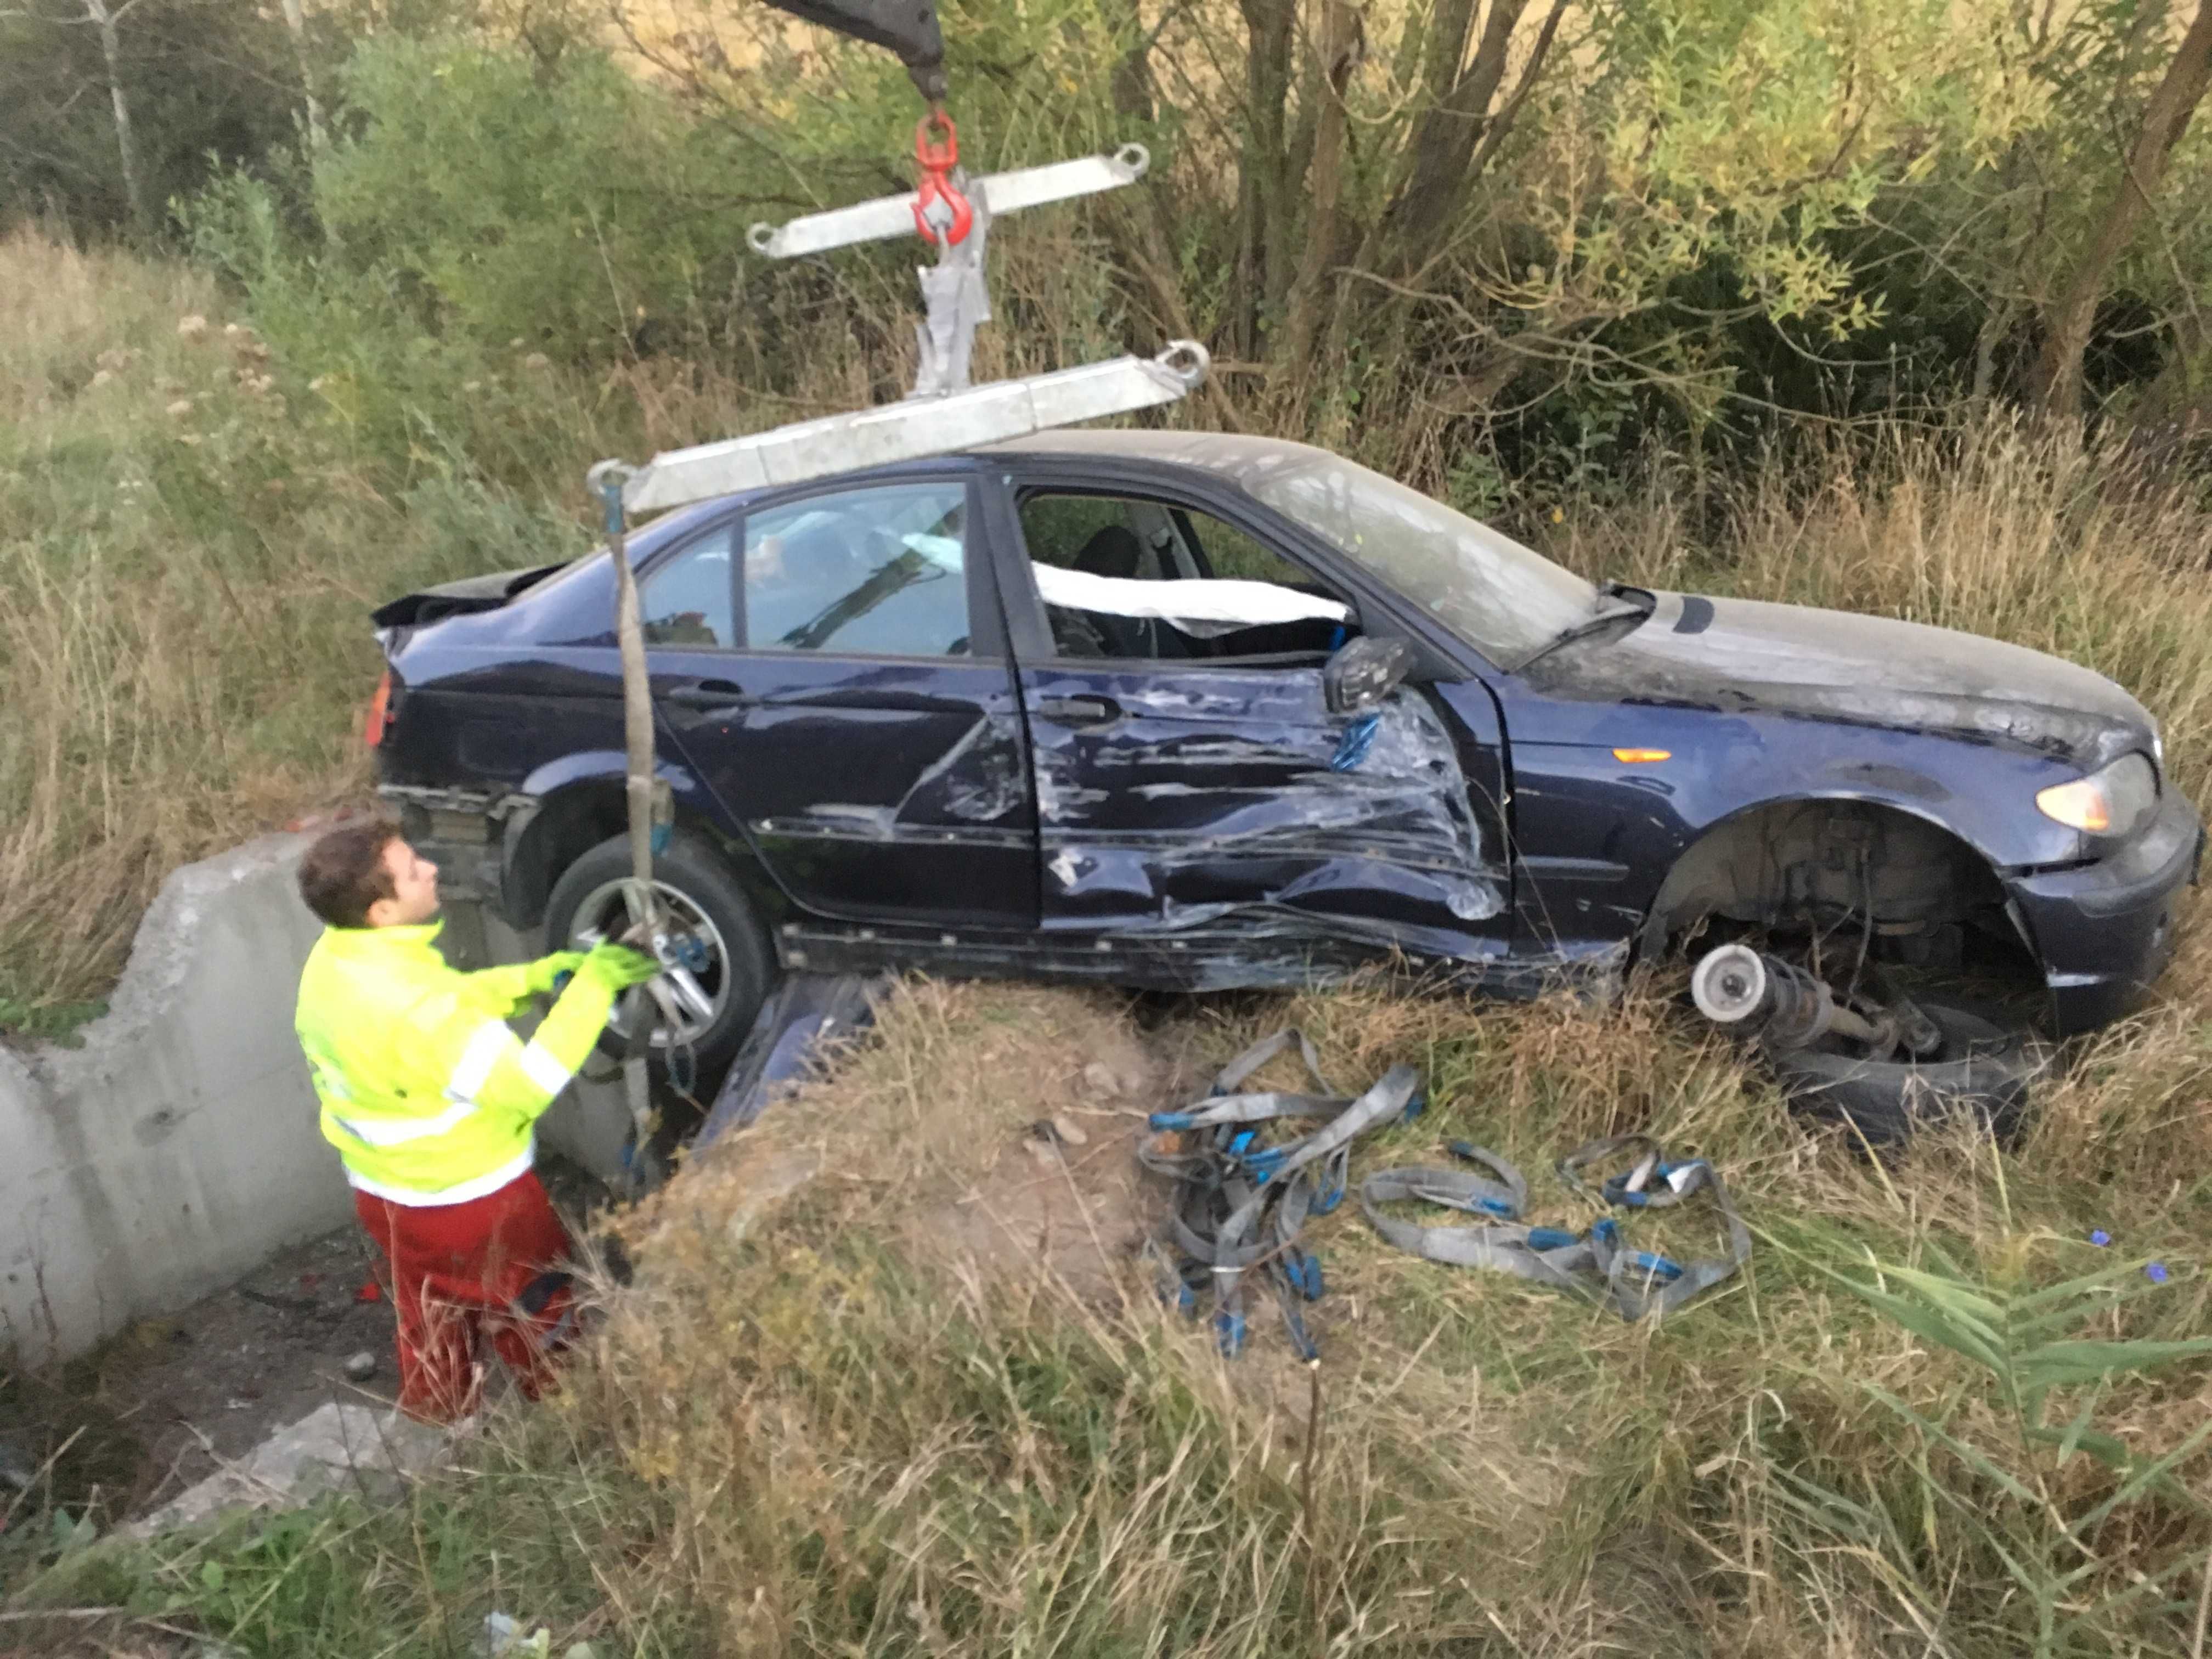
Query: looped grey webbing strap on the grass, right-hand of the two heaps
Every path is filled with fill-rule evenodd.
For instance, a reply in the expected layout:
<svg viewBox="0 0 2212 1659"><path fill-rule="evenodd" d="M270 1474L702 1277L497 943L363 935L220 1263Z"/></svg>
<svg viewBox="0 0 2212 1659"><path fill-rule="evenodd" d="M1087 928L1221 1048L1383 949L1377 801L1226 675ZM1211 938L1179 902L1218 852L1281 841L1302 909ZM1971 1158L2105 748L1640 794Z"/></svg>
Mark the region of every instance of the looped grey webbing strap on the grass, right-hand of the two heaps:
<svg viewBox="0 0 2212 1659"><path fill-rule="evenodd" d="M1590 1188L1584 1170L1617 1161L1624 1150L1637 1161ZM1728 1254L1679 1263L1650 1250L1630 1248L1613 1217L1601 1217L1586 1234L1566 1228L1528 1228L1520 1217L1528 1183L1506 1159L1464 1141L1453 1157L1489 1168L1498 1179L1462 1170L1376 1170L1360 1183L1360 1208L1383 1239L1407 1254L1453 1267L1486 1267L1599 1301L1626 1321L1666 1316L1732 1276L1752 1254L1752 1234L1736 1214L1728 1186L1705 1159L1670 1164L1648 1135L1615 1135L1590 1141L1559 1159L1559 1179L1584 1197L1619 1208L1666 1208L1699 1192L1712 1197L1728 1230ZM1385 1214L1391 1201L1438 1203L1467 1214L1491 1217L1478 1228L1429 1228Z"/></svg>

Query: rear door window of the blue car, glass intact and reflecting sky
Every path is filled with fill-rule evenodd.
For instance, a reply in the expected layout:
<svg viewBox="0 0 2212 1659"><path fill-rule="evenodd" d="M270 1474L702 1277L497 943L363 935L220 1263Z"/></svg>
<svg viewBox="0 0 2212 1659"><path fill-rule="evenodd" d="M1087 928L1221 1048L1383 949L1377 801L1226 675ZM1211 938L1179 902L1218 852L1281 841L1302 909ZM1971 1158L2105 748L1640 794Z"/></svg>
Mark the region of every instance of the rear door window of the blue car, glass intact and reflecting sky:
<svg viewBox="0 0 2212 1659"><path fill-rule="evenodd" d="M745 648L969 655L967 484L810 495L745 518Z"/></svg>

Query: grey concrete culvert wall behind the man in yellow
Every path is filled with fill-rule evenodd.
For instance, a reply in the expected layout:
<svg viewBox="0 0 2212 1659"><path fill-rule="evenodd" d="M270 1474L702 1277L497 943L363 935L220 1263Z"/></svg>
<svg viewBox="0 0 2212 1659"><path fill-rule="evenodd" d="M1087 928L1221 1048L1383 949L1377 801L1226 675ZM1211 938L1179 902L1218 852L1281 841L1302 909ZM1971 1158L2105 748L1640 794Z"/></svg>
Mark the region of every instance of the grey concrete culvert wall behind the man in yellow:
<svg viewBox="0 0 2212 1659"><path fill-rule="evenodd" d="M352 1219L292 1035L321 931L294 880L307 841L175 872L77 1046L0 1046L0 1358L71 1358ZM467 911L449 936L462 967L522 949ZM622 1124L619 1099L586 1097L544 1128L602 1166Z"/></svg>

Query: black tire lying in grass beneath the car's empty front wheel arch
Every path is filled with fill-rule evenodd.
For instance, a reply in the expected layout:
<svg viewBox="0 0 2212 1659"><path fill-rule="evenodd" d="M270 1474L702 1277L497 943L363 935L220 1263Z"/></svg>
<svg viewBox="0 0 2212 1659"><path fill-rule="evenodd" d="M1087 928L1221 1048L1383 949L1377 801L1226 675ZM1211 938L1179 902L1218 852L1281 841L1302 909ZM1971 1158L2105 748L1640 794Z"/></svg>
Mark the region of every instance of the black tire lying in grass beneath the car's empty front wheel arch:
<svg viewBox="0 0 2212 1659"><path fill-rule="evenodd" d="M2028 1084L2044 1057L2020 1031L1964 1009L1922 1002L1942 1031L1933 1060L1898 1064L1818 1048L1770 1051L1767 1064L1790 1106L1807 1117L1851 1124L1869 1146L1893 1148L1922 1124L1973 1121L2011 1141L2028 1106Z"/></svg>

